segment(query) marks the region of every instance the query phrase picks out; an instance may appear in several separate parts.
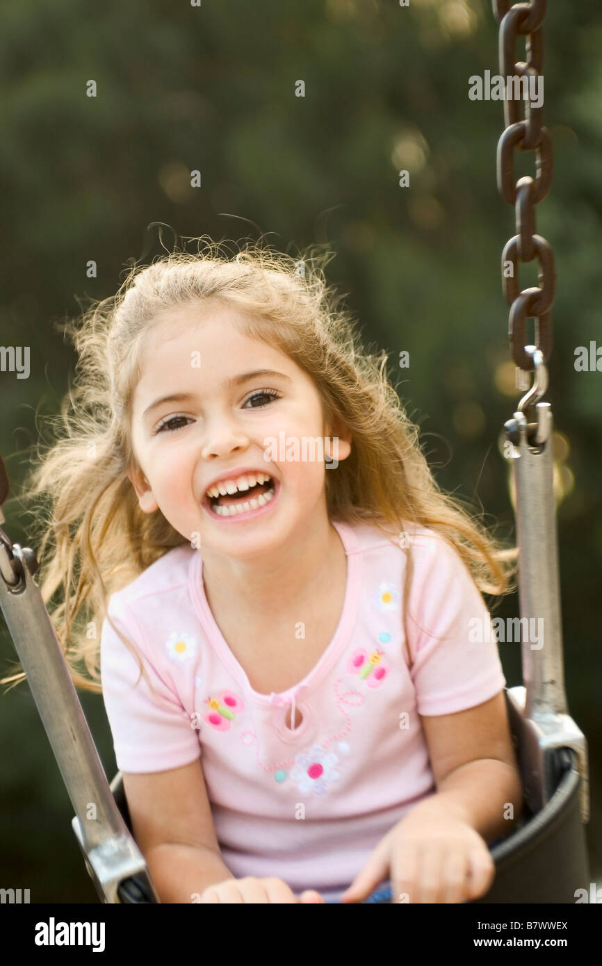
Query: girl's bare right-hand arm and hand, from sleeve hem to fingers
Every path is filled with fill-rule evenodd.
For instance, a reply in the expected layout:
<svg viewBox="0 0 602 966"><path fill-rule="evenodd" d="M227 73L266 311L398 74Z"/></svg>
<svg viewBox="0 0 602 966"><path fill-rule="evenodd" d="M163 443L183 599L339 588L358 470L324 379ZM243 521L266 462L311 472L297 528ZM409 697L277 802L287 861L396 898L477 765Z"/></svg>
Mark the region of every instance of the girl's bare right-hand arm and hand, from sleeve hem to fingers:
<svg viewBox="0 0 602 966"><path fill-rule="evenodd" d="M392 902L464 902L493 882L487 845L511 830L523 808L504 693L421 720L437 791L379 842L342 902L361 902L387 877Z"/></svg>

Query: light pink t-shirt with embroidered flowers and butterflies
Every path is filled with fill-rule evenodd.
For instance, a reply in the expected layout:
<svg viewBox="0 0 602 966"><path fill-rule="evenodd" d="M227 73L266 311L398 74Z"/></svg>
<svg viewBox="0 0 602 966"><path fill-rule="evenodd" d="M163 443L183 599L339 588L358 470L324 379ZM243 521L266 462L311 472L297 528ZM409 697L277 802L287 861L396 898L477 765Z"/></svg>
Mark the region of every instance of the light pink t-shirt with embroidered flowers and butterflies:
<svg viewBox="0 0 602 966"><path fill-rule="evenodd" d="M277 876L298 896L317 889L327 899L436 791L418 716L471 708L506 683L484 600L436 531L408 531L409 669L404 552L375 526L333 526L347 556L343 610L326 651L289 691L250 687L209 608L201 552L188 544L110 597L111 618L136 645L155 693L144 677L133 687L138 665L106 620L100 643L118 768L158 772L200 755L233 875ZM471 642L472 618L482 622L484 642Z"/></svg>

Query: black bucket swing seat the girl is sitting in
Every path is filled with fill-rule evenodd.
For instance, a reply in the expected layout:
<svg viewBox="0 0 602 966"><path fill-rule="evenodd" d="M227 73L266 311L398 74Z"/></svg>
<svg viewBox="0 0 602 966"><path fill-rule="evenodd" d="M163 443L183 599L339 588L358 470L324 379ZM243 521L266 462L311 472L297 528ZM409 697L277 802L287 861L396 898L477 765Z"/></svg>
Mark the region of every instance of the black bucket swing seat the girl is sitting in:
<svg viewBox="0 0 602 966"><path fill-rule="evenodd" d="M529 734L520 713L521 692L504 689L512 741L521 774L530 767ZM518 693L518 694L517 694ZM576 729L578 730L578 729ZM569 732L570 734L570 729ZM574 903L578 889L588 890L588 854L582 821L582 775L574 748L543 750L544 775L554 792L543 808L526 805L507 838L490 846L496 876L489 891L473 903ZM526 785L527 782L524 781ZM115 803L133 836L121 772L110 783ZM73 823L76 819L73 819ZM118 888L122 902L153 902L145 876L135 875ZM390 904L390 890L379 889L371 903Z"/></svg>

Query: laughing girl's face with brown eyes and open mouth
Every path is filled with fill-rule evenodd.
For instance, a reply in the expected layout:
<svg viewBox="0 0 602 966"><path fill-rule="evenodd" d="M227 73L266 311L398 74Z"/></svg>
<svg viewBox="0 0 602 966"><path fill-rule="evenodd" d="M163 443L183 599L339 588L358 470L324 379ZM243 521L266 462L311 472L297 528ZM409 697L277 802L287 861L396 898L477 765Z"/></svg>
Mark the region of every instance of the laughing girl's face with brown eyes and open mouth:
<svg viewBox="0 0 602 966"><path fill-rule="evenodd" d="M241 334L235 312L189 306L149 334L132 402L141 469L129 478L141 509L159 509L192 546L244 557L296 533L306 537L328 519L325 473L336 469L326 469L322 453L340 461L351 445L338 437L333 449L309 376L288 355ZM249 375L258 370L272 371ZM252 470L272 477L272 498L233 516L213 512L207 490L215 480Z"/></svg>

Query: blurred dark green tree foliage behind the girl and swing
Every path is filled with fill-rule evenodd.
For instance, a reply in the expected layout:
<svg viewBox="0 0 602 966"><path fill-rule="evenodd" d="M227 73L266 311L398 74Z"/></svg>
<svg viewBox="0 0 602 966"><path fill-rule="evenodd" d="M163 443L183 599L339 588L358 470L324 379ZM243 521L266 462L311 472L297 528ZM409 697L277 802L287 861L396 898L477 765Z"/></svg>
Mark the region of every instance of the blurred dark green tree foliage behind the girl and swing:
<svg viewBox="0 0 602 966"><path fill-rule="evenodd" d="M548 6L544 123L555 173L537 232L553 245L558 289L546 398L557 430L567 694L588 737L588 843L600 884L602 375L576 372L574 358L577 346L602 344L602 21L594 0ZM265 233L293 254L310 243L332 248L328 280L364 342L387 350L440 486L472 499L512 539L502 426L522 393L500 265L515 221L496 185L502 102L468 96L471 75L499 72L491 4L4 0L1 18L0 342L31 350L28 379L0 373L12 495L73 376L56 323L88 297L113 294L130 260L151 262L178 236ZM409 187L399 186L402 169ZM534 175L532 152L515 174ZM537 284L536 262L520 281ZM6 509L8 532L26 545L18 499ZM496 613L518 615L518 596ZM6 673L16 655L1 623ZM521 683L520 645L501 644L501 655L508 685ZM81 700L110 779L101 697ZM0 789L0 886L30 888L32 902L97 901L26 683L0 698Z"/></svg>

